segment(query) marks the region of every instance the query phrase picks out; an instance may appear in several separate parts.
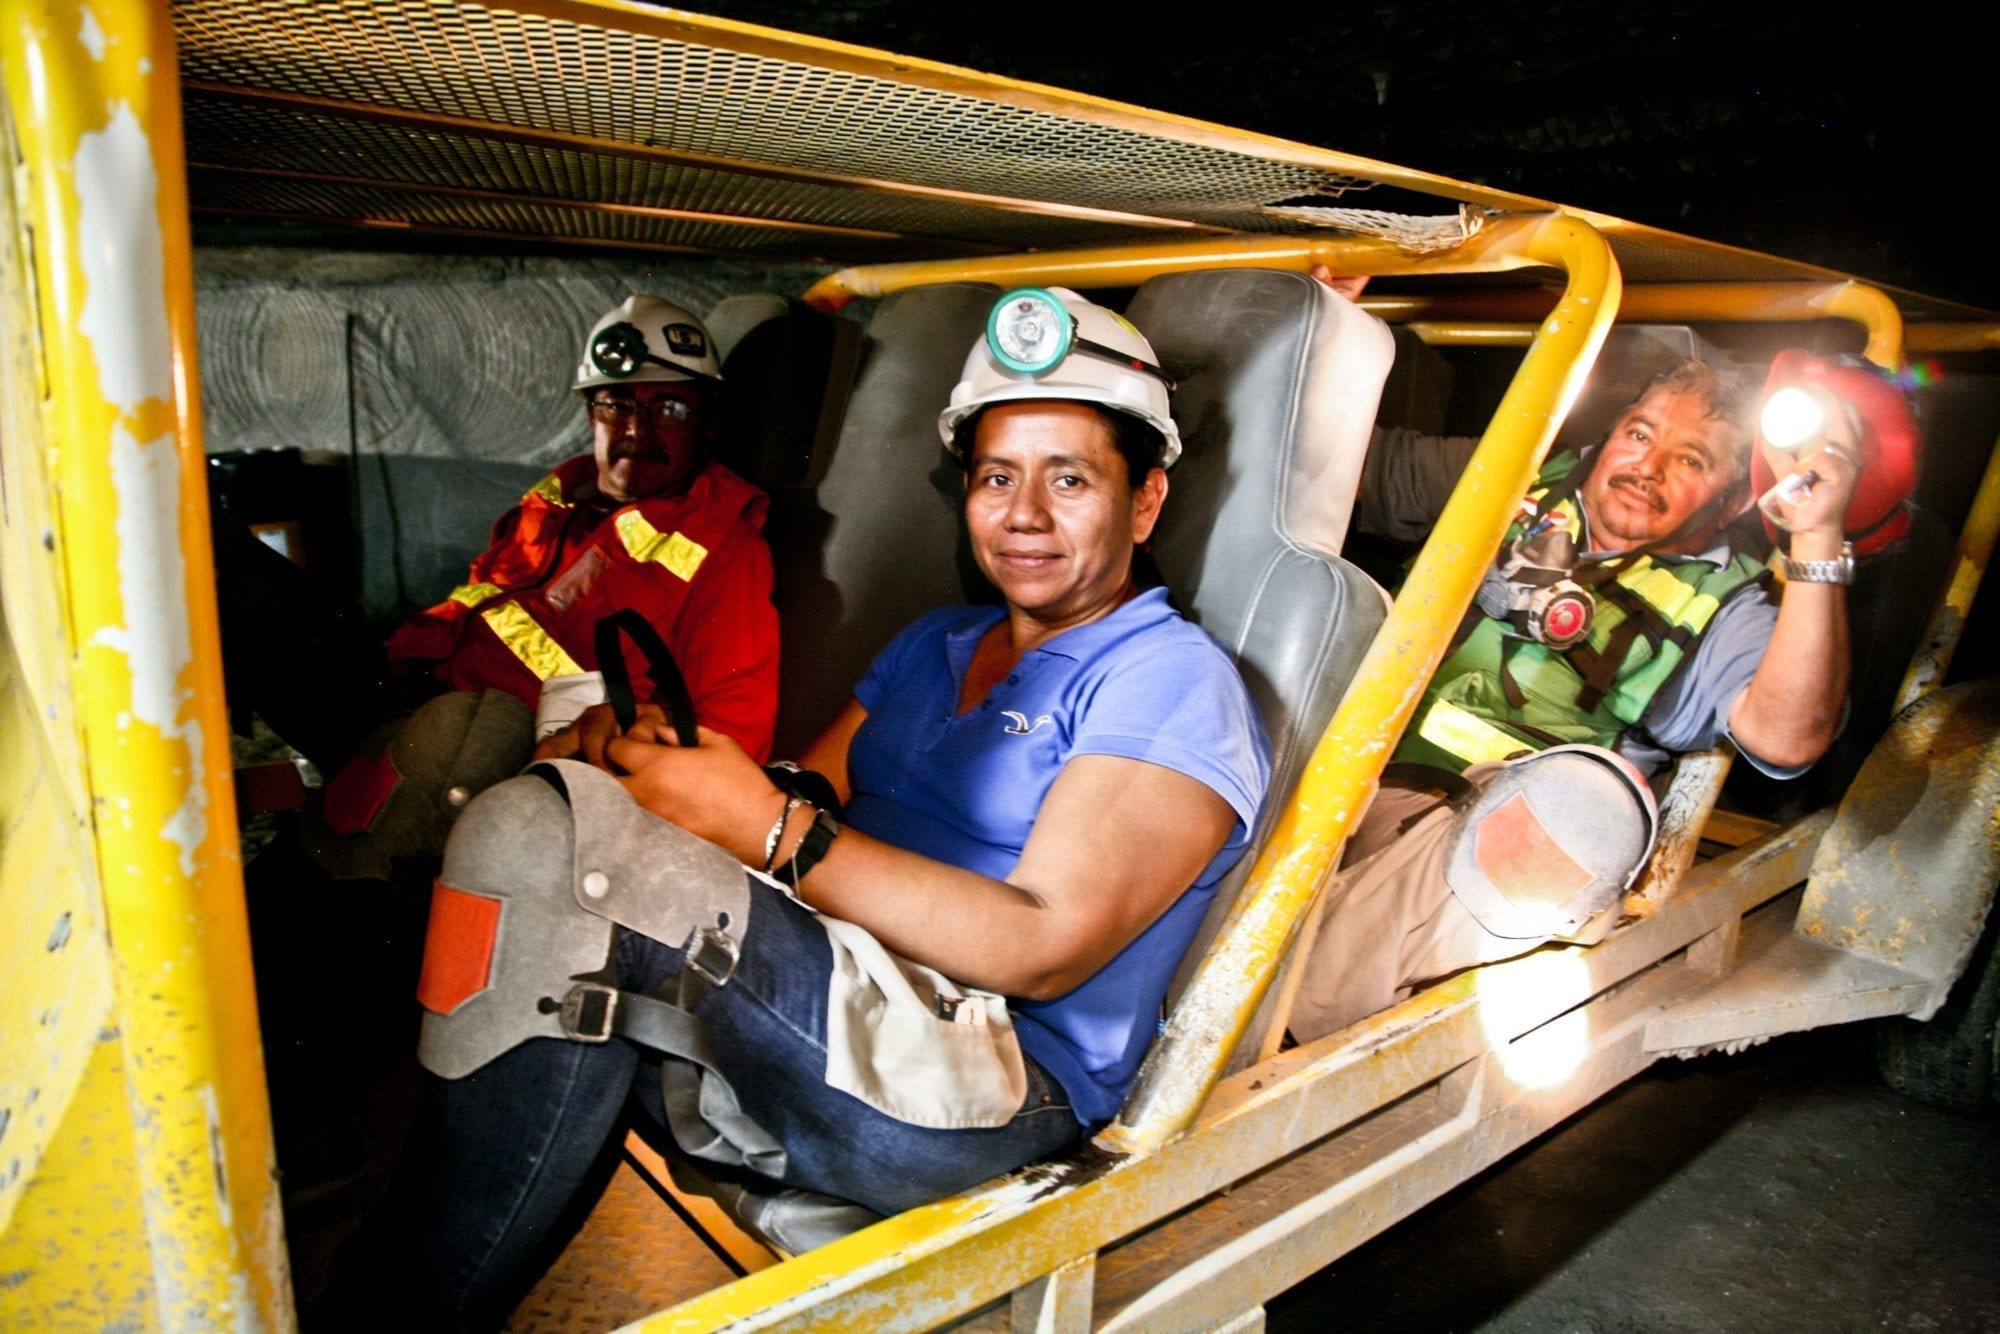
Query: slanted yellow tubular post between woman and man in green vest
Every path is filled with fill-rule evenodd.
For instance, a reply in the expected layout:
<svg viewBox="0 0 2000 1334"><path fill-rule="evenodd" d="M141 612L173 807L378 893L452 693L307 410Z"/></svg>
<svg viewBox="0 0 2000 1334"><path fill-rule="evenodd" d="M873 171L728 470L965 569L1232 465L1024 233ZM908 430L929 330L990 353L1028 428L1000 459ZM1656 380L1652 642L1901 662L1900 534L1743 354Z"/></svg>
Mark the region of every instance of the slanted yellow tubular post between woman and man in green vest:
<svg viewBox="0 0 2000 1334"><path fill-rule="evenodd" d="M1154 1042L1124 1114L1098 1136L1104 1148L1150 1152L1178 1138L1222 1076L1298 920L1374 796L1382 766L1444 660L1514 506L1542 466L1618 312L1618 262L1604 238L1578 218L1558 214L1498 236L1482 234L1458 260L1488 270L1548 264L1568 274L1568 286L1542 320L1216 946L1166 1034Z"/></svg>

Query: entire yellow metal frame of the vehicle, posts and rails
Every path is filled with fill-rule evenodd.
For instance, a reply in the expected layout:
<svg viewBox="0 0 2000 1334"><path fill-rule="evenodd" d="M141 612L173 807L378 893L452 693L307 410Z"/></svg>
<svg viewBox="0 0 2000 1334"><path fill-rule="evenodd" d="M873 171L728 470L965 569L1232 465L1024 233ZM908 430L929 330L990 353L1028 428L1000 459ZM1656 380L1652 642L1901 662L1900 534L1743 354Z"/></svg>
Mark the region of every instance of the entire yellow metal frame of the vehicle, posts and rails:
<svg viewBox="0 0 2000 1334"><path fill-rule="evenodd" d="M516 8L966 90L1450 198L1532 204L1140 108L652 6L524 0ZM42 1110L54 1134L40 1162L26 1164L28 1186L0 1236L0 1272L10 1276L0 1288L0 1324L10 1322L8 1312L32 1318L68 1302L68 1310L94 1324L286 1328L292 1312L234 800L228 756L218 744L226 726L214 590L206 578L174 32L164 4L150 0L16 4L0 14L0 68L8 74L18 138L14 206L36 242L24 256L34 328L10 330L8 338L32 338L42 366L40 432L32 444L44 454L38 462L52 496L46 540L34 534L48 564L32 566L30 576L16 560L0 584L8 592L8 632L54 632L50 642L68 654L54 674L60 680L30 680L26 692L40 706L30 720L40 728L36 740L58 770L48 782L78 798L70 802L80 812L82 852L74 868L80 878L94 874L90 890L100 894L102 912L78 916L74 928L88 932L90 948L108 968L102 1032L92 1032L90 1050L70 1062L66 1106L54 1106L52 1094ZM1650 244L1682 242L1628 224L1616 224L1616 232ZM1700 250L1698 242L1682 244ZM1088 1274L1086 1258L1096 1246L1494 1046L1494 1036L1478 1028L1480 976L1492 972L1480 970L1380 1022L1262 1066L1260 1078L1276 1078L1272 1084L1232 1080L1218 1092L1228 1054L1272 984L1352 818L1372 796L1508 514L1620 314L1622 278L1604 234L1582 216L1516 214L1442 256L1410 256L1388 242L1338 236L1176 240L842 270L818 284L810 300L838 308L854 296L966 278L1102 286L1186 268L1312 264L1356 274L1552 268L1566 274L1568 286L1552 306L1548 294L1488 298L1538 302L1532 312L1522 306L1492 316L1534 320L1528 356L1370 648L1356 688L1320 738L1298 798L1254 864L1218 948L1156 1044L1126 1116L1100 1138L1116 1158L1096 1174L1068 1164L1062 1182L1018 1174L914 1210L660 1316L652 1322L658 1328L706 1328L738 1318L874 1328L894 1314L884 1304L898 1302L892 1288L928 1290L940 1306L962 1310L1058 1266L1072 1278ZM1858 320L1870 328L1870 356L1900 364L1900 314L1886 296L1860 284L1656 286L1644 298L1634 292L1624 314L1652 318L1646 302L1666 300L1670 290L1688 298L1676 306L1678 318ZM1714 304L1688 304L1700 300ZM1796 302L1798 314L1782 314L1784 302ZM1758 304L1756 316L1726 312L1750 304ZM1456 316L1440 308L1438 316L1480 318L1464 306ZM1926 338L1932 342L1924 350L1942 344L1960 350L1974 340L1980 348L1994 346L1990 330L1938 326ZM10 438L6 446L22 442ZM12 558L24 534L16 514L6 526ZM1982 486L1940 618L1962 618L1970 606L1996 528L2000 456ZM28 606L32 600L40 602ZM40 666L30 662L30 674ZM1942 674L1942 660L1932 670ZM10 726L10 738L24 730L18 716ZM70 756L80 756L76 772L60 772ZM1586 974L1602 990L1658 962L1662 952L1706 940L1704 932L1734 932L1732 914L1798 880L1798 862L1810 856L1822 828L1824 818L1800 822L1728 864L1696 872L1690 898L1582 956ZM1728 948L1710 954L1720 958L1732 942L1728 934ZM1500 974L1532 974L1544 958L1576 958L1576 952L1520 960ZM1498 1042L1554 1014L1518 1016ZM112 1132L124 1140L112 1144L118 1138ZM38 1194L46 1184L36 1180L38 1166L70 1174L60 1210L48 1208L54 1186ZM144 1256L144 1264L134 1256ZM978 1270L972 1284L964 1280L968 1264ZM12 1282L14 1274L26 1276ZM88 1310L76 1304L78 1294L88 1294ZM818 1306L822 1298L834 1298L834 1306Z"/></svg>

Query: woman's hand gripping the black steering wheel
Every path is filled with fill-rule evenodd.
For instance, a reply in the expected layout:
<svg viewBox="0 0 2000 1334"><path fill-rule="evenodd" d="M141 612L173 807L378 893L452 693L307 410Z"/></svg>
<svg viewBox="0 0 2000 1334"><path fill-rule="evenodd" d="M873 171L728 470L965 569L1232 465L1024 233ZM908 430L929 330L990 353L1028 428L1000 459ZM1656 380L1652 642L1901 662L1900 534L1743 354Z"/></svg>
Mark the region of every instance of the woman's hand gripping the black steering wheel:
<svg viewBox="0 0 2000 1334"><path fill-rule="evenodd" d="M652 814L762 866L784 792L722 732L698 728L696 736L694 746L682 746L664 716L640 722L604 744L604 768Z"/></svg>

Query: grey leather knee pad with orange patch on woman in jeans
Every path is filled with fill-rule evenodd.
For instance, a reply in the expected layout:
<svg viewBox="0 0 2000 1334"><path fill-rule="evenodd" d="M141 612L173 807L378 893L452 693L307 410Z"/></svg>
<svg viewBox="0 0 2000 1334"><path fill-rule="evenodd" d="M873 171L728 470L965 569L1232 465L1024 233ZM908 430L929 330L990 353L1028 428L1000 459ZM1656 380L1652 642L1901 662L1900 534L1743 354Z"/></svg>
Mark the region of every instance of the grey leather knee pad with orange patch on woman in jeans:
<svg viewBox="0 0 2000 1334"><path fill-rule="evenodd" d="M528 1038L602 1042L614 928L726 980L750 918L744 868L642 810L610 774L550 760L472 800L444 848L424 940L418 1060L462 1078ZM586 984L586 986L578 986Z"/></svg>

